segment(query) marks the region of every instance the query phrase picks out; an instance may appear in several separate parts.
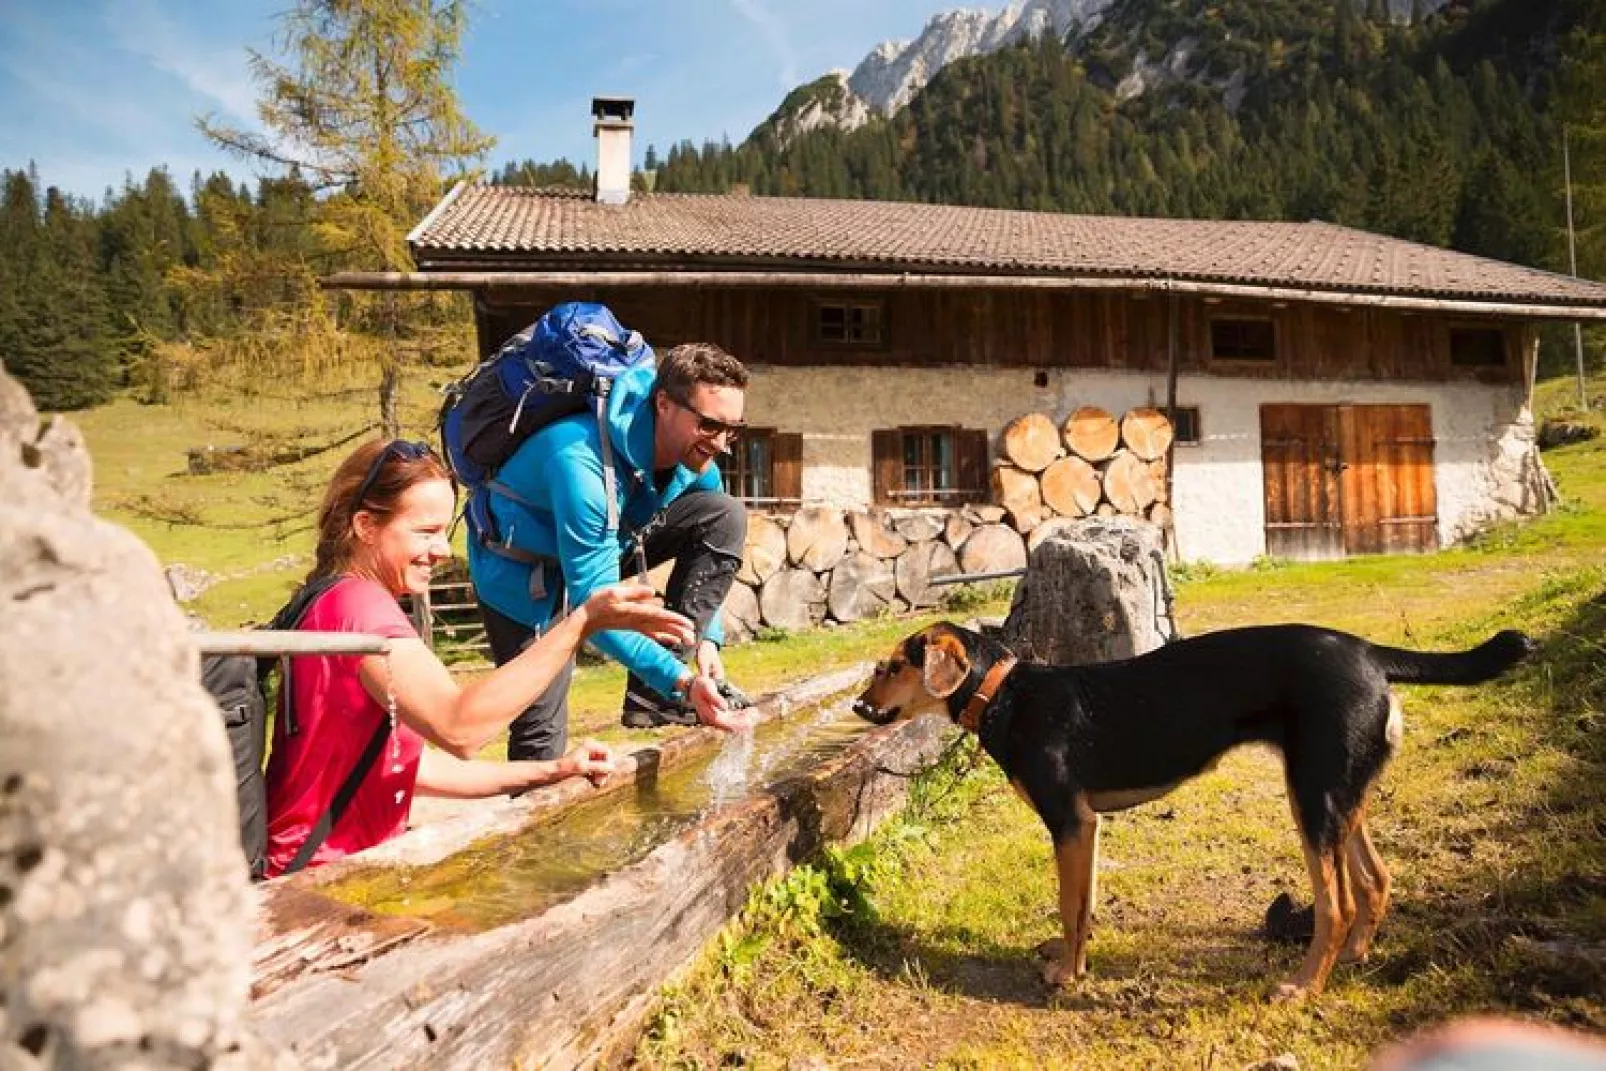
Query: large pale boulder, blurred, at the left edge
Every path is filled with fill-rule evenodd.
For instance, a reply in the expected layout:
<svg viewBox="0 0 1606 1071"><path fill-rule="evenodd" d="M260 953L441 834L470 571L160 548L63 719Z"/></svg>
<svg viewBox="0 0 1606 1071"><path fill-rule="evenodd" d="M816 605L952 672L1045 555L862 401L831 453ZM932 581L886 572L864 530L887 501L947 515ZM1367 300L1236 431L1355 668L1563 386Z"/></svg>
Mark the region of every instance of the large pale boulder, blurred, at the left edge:
<svg viewBox="0 0 1606 1071"><path fill-rule="evenodd" d="M233 763L156 557L0 368L0 1066L283 1066Z"/></svg>

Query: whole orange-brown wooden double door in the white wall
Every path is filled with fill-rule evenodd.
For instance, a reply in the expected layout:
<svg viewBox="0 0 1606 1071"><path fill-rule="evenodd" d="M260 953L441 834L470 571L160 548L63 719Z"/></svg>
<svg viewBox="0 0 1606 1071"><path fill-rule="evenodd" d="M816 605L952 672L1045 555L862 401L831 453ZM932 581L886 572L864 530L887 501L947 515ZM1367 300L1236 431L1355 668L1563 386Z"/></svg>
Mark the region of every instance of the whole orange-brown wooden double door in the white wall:
<svg viewBox="0 0 1606 1071"><path fill-rule="evenodd" d="M1439 544L1426 405L1264 405L1266 552L1328 559Z"/></svg>

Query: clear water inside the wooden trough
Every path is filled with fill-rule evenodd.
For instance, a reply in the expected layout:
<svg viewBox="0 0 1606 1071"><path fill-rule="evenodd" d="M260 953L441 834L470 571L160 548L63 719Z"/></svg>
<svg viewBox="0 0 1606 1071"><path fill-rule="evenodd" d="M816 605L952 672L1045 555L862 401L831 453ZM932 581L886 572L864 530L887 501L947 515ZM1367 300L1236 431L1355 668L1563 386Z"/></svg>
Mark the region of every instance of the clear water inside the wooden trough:
<svg viewBox="0 0 1606 1071"><path fill-rule="evenodd" d="M381 914L487 930L528 918L731 806L840 755L869 723L838 697L724 737L711 755L644 771L622 792L575 804L516 833L485 838L426 867L376 867L323 888Z"/></svg>

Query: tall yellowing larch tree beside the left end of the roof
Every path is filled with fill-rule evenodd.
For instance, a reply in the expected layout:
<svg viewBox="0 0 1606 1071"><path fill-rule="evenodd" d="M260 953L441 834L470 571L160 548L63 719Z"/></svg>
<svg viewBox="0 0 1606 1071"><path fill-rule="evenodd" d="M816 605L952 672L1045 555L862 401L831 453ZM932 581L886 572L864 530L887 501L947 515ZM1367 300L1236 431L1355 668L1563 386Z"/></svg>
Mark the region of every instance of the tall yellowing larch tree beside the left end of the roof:
<svg viewBox="0 0 1606 1071"><path fill-rule="evenodd" d="M286 59L251 53L263 130L201 120L220 146L297 172L318 191L318 257L302 262L305 273L411 271L408 230L453 172L490 151L493 140L463 114L448 82L466 22L464 0L294 0L281 16ZM332 316L315 300L320 316ZM458 336L461 302L352 294L340 299L340 320L347 337L337 348L379 366L381 427L393 437L403 358Z"/></svg>

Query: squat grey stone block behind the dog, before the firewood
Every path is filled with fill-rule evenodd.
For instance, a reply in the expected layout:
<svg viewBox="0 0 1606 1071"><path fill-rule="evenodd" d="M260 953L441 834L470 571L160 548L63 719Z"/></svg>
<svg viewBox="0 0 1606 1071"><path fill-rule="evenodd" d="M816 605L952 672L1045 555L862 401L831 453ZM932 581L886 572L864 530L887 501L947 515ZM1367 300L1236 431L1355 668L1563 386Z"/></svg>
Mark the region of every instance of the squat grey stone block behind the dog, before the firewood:
<svg viewBox="0 0 1606 1071"><path fill-rule="evenodd" d="M1018 654L1057 665L1131 658L1176 634L1164 536L1152 523L1078 520L1037 544L1004 623Z"/></svg>

